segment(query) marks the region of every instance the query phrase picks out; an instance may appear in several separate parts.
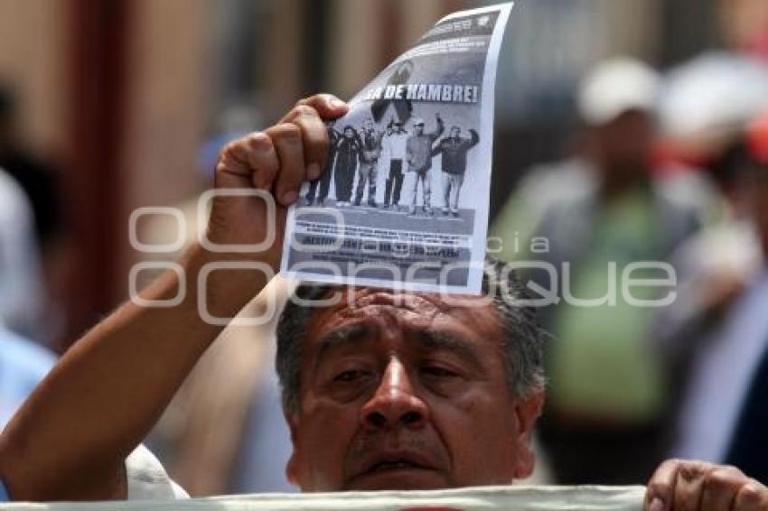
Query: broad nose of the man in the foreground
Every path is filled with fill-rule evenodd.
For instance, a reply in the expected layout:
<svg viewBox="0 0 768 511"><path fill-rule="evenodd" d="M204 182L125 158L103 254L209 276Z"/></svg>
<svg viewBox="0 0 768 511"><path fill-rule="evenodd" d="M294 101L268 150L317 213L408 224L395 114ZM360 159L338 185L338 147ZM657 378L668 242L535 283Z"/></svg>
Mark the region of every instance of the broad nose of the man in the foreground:
<svg viewBox="0 0 768 511"><path fill-rule="evenodd" d="M424 426L428 413L426 404L414 392L406 368L392 358L376 391L362 407L361 421L370 430L417 429Z"/></svg>

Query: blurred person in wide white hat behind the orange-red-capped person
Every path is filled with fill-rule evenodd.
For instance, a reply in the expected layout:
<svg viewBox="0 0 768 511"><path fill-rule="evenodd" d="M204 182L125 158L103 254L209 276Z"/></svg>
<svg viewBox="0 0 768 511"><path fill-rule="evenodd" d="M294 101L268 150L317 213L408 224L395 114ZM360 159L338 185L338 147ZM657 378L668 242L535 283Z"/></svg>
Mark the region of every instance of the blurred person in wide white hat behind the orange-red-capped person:
<svg viewBox="0 0 768 511"><path fill-rule="evenodd" d="M708 52L671 70L667 78L660 153L701 168L719 197L708 211L705 228L672 255L678 297L656 320L655 337L674 368L676 406L689 386L698 352L722 329L732 305L763 266L751 210L754 183L748 178L754 157L745 134L755 114L766 108L768 67L735 53ZM715 422L731 420L719 415ZM685 434L678 432L679 437Z"/></svg>

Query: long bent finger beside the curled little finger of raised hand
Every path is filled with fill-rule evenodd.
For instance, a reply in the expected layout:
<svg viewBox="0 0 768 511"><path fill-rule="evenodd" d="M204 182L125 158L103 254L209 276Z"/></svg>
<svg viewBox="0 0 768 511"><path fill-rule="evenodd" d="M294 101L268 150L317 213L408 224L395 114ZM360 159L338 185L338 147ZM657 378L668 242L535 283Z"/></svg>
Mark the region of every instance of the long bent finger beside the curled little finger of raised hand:
<svg viewBox="0 0 768 511"><path fill-rule="evenodd" d="M267 135L272 139L279 161L275 197L284 206L289 206L298 199L299 187L306 180L301 128L284 123L267 129Z"/></svg>

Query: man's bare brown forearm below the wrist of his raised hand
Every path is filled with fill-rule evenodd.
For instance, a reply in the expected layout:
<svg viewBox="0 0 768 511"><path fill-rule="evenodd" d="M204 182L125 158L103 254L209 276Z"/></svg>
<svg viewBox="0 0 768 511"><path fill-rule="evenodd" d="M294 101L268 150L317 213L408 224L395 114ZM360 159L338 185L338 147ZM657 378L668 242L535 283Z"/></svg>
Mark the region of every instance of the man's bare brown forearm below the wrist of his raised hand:
<svg viewBox="0 0 768 511"><path fill-rule="evenodd" d="M198 311L198 275L219 260L220 255L193 247L183 258L188 286L181 303L169 308L126 303L61 358L0 437L0 477L12 497L115 497L103 481L119 482L126 455L222 329L203 321ZM236 275L210 274L211 315L234 316L268 282L258 272ZM178 286L177 275L168 272L141 297L173 298ZM105 495L89 488L95 484Z"/></svg>

